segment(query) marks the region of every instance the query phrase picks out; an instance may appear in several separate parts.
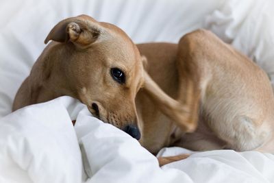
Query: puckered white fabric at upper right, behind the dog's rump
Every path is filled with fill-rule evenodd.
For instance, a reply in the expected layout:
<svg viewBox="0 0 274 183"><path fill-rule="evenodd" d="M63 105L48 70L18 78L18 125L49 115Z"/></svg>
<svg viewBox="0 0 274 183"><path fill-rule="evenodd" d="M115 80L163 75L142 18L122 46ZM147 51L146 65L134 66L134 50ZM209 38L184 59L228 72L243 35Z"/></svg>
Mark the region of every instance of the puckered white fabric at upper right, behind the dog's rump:
<svg viewBox="0 0 274 183"><path fill-rule="evenodd" d="M251 58L274 87L274 1L229 0L206 17L204 27Z"/></svg>

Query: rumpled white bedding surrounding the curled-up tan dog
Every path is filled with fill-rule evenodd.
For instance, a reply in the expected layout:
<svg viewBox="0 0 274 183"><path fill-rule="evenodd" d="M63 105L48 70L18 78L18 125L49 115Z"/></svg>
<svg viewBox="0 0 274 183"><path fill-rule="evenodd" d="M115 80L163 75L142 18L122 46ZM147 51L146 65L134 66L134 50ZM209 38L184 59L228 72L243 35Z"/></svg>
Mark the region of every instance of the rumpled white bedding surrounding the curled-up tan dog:
<svg viewBox="0 0 274 183"><path fill-rule="evenodd" d="M0 182L274 182L274 155L257 151L169 147L158 156L191 156L160 168L138 141L71 97L11 113L50 29L79 14L114 23L136 43L177 42L210 29L259 64L274 86L273 8L271 0L1 1Z"/></svg>

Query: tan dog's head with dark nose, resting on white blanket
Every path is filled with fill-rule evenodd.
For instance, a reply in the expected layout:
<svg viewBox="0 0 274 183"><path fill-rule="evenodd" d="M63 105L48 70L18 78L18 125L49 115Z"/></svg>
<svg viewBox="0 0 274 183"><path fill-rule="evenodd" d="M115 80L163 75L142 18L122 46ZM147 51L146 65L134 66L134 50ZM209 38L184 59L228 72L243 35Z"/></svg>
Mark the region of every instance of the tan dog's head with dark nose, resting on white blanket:
<svg viewBox="0 0 274 183"><path fill-rule="evenodd" d="M95 117L139 139L134 100L143 83L143 58L125 32L81 15L55 25L49 40L60 42L55 47L62 48L64 82L73 97Z"/></svg>

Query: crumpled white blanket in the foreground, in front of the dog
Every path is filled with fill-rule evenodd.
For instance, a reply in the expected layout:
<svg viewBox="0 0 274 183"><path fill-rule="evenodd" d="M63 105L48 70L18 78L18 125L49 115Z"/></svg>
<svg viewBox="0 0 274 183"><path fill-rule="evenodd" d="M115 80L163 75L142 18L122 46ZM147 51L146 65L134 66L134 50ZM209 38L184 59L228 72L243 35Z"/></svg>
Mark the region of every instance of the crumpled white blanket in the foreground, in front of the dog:
<svg viewBox="0 0 274 183"><path fill-rule="evenodd" d="M159 155L184 152L190 151L173 147ZM192 152L161 169L138 141L71 97L28 106L0 121L0 182L261 183L274 182L273 169L271 154L232 150Z"/></svg>

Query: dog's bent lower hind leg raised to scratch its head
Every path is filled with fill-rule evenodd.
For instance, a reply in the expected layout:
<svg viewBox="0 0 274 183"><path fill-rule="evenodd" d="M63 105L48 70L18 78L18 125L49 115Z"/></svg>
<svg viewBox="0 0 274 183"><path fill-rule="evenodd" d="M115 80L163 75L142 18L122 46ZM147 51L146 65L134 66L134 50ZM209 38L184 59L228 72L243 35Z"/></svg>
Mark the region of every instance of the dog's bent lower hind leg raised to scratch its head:
<svg viewBox="0 0 274 183"><path fill-rule="evenodd" d="M173 99L145 73L145 93L155 106L180 127L183 132L193 132L197 128L201 90L199 72L189 54L190 44L180 41L177 52L177 69L179 73L178 98Z"/></svg>

